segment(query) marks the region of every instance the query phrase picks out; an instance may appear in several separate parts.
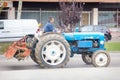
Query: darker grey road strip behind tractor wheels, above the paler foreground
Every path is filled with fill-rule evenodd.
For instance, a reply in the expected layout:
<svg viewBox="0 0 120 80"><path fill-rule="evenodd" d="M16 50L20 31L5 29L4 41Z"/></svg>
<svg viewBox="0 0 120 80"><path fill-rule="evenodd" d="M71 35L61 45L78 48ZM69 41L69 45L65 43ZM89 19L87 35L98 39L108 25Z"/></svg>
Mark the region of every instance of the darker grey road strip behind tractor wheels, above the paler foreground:
<svg viewBox="0 0 120 80"><path fill-rule="evenodd" d="M120 67L120 53L110 53L111 63L109 67ZM93 65L85 64L81 56L76 55L73 58L70 58L70 61L65 66L65 68L94 68ZM35 69L43 69L38 64L32 61L29 57L24 61L18 61L13 58L7 60L4 56L0 55L0 71L11 71L11 70L35 70ZM58 68L57 68L58 69Z"/></svg>

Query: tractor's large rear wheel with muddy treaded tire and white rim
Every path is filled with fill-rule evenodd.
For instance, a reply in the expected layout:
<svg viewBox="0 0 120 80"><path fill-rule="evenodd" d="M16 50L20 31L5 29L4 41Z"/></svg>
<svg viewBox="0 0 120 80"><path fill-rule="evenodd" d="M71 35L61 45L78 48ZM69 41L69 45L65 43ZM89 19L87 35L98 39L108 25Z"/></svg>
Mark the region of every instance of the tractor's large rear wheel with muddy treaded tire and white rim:
<svg viewBox="0 0 120 80"><path fill-rule="evenodd" d="M40 67L43 68L64 67L68 63L71 54L71 49L68 42L63 38L63 36L56 33L50 33L47 35L45 34L41 38L38 44L36 45L35 49L35 57ZM63 52L60 52L60 50L63 50ZM45 52L47 52L47 54L45 54ZM56 58L56 56L59 57L59 59Z"/></svg>

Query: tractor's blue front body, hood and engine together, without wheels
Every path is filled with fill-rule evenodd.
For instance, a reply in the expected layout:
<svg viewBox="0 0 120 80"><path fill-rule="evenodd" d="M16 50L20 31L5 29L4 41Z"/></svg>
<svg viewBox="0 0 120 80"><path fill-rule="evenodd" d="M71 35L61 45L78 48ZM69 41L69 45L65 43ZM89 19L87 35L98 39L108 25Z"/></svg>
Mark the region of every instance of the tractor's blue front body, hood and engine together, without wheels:
<svg viewBox="0 0 120 80"><path fill-rule="evenodd" d="M77 53L93 53L98 49L104 50L104 34L84 32L84 33L64 33L65 39L71 47L71 57Z"/></svg>

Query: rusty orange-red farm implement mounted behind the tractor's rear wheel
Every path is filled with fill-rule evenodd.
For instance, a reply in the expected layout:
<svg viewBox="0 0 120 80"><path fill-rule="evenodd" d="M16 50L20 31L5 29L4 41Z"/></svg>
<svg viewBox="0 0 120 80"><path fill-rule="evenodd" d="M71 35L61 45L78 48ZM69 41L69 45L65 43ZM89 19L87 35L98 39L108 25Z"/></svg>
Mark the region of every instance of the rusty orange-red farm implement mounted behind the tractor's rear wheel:
<svg viewBox="0 0 120 80"><path fill-rule="evenodd" d="M23 37L19 41L13 42L12 45L10 45L10 47L4 53L5 57L7 59L15 57L18 60L22 60L27 57L30 54L31 50L27 48L26 39L27 36Z"/></svg>

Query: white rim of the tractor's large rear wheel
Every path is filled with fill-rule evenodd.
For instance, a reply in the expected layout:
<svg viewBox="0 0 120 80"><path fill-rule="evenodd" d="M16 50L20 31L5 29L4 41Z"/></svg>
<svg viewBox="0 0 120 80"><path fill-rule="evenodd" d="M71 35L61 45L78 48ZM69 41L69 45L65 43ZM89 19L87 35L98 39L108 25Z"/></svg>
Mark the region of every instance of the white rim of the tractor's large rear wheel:
<svg viewBox="0 0 120 80"><path fill-rule="evenodd" d="M60 41L48 41L42 48L42 59L49 65L58 65L65 57L66 48Z"/></svg>

